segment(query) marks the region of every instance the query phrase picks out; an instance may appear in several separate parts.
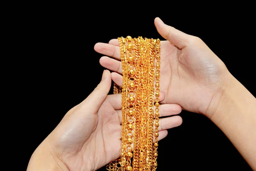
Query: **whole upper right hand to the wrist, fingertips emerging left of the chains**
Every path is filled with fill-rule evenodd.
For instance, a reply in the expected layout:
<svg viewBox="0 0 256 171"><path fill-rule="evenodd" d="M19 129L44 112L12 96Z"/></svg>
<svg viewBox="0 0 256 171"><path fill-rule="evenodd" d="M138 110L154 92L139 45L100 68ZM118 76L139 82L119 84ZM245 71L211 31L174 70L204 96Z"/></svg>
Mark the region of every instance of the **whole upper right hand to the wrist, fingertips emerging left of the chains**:
<svg viewBox="0 0 256 171"><path fill-rule="evenodd" d="M167 41L161 41L160 91L162 103L175 103L187 111L211 117L231 74L224 63L198 37L167 26L156 18L157 31ZM150 38L150 37L148 37ZM95 51L120 60L117 39L97 43ZM112 71L113 81L122 85L121 62L102 57L100 64ZM119 74L117 74L119 73Z"/></svg>

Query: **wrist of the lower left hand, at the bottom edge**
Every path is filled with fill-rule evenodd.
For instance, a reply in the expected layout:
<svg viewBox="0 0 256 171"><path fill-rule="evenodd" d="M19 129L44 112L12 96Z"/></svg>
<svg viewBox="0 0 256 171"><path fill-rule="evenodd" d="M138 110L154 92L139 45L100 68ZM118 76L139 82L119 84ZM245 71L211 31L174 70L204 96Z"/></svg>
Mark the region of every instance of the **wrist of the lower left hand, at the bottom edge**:
<svg viewBox="0 0 256 171"><path fill-rule="evenodd" d="M51 148L50 142L44 140L32 154L27 171L69 171L69 168L62 162L55 151Z"/></svg>

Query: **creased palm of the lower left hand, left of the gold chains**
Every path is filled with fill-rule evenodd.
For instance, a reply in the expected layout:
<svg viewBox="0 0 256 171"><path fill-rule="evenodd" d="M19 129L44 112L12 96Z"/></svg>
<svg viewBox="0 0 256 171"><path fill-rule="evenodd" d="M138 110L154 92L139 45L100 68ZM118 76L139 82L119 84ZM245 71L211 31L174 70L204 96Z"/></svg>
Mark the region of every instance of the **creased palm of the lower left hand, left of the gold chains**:
<svg viewBox="0 0 256 171"><path fill-rule="evenodd" d="M96 114L87 114L84 122L76 117L68 121L70 126L67 125L65 118L69 115L86 111L81 106L77 105L64 117L61 124L65 125L65 129L61 130L56 150L70 170L86 170L87 165L92 163L105 165L119 157L121 151L119 110L113 108L109 98L105 99Z"/></svg>

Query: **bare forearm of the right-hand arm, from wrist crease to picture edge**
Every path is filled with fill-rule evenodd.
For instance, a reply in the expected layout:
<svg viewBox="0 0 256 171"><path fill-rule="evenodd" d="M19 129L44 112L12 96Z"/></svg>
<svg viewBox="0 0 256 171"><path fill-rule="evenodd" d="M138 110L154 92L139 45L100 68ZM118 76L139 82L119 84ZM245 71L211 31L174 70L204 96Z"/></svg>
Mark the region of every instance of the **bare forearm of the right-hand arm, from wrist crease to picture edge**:
<svg viewBox="0 0 256 171"><path fill-rule="evenodd" d="M256 170L256 98L233 78L210 119Z"/></svg>

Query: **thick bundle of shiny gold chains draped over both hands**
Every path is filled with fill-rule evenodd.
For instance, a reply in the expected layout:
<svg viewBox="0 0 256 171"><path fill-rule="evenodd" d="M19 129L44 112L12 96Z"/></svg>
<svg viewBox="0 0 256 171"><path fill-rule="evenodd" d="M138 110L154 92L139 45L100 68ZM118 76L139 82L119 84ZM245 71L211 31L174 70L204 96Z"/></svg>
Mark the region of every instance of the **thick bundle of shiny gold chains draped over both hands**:
<svg viewBox="0 0 256 171"><path fill-rule="evenodd" d="M119 87L114 83L113 93L122 93L122 149L120 157L109 163L107 170L155 171L159 136L160 40L131 36L118 40L123 84Z"/></svg>

